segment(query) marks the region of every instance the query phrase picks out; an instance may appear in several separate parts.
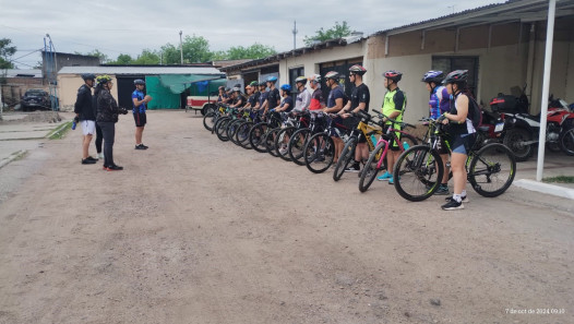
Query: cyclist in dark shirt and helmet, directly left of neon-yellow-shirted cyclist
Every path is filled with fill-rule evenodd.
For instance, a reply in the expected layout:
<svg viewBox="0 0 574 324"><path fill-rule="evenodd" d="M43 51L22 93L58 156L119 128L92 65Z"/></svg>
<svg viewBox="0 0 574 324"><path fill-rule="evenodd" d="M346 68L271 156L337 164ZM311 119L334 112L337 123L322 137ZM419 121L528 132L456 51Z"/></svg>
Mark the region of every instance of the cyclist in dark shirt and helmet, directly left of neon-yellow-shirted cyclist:
<svg viewBox="0 0 574 324"><path fill-rule="evenodd" d="M359 112L360 110L363 110L364 112L369 111L371 95L369 93L369 87L362 83L362 75L364 75L364 73L367 73L367 69L359 64L355 64L349 69L349 80L355 84L355 87L352 88L350 100L338 112L338 115L345 119L346 125L349 129L357 128L357 124L359 123L359 119L350 117L349 112ZM357 149L355 149L355 164L345 171L359 172L360 161L367 160L368 158L369 147L367 146L367 139L364 136L360 136L359 143L357 143Z"/></svg>

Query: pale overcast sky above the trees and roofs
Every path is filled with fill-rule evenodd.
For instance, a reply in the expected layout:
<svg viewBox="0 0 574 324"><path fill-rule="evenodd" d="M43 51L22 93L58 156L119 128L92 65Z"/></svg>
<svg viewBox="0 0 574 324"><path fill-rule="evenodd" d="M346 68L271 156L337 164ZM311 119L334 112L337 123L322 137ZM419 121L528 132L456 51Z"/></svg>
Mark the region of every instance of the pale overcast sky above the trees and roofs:
<svg viewBox="0 0 574 324"><path fill-rule="evenodd" d="M0 0L0 38L10 38L17 47L13 59L21 69L29 69L25 64L41 60L38 52L31 52L44 48L46 34L57 51L85 53L98 49L110 59L120 53L136 57L144 48L159 49L167 43L179 46L179 31L183 36L205 37L211 50L259 43L280 52L292 49L294 20L299 31L297 47L302 47L306 35L330 28L335 22L346 21L351 29L368 36L502 2L505 1Z"/></svg>

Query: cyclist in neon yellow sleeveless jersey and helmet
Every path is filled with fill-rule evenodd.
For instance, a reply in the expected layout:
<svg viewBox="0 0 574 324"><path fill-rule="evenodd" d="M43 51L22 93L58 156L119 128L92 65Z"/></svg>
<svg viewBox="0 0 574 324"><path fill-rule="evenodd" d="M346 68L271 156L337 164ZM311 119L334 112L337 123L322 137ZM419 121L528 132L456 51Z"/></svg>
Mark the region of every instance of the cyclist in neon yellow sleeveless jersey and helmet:
<svg viewBox="0 0 574 324"><path fill-rule="evenodd" d="M381 110L388 118L396 121L403 121L403 111L407 106L405 93L398 88L398 82L403 77L403 73L391 70L383 73L383 76L384 86L386 87L387 92L384 96L383 107ZM383 121L386 122L387 125L392 125L390 121L386 121L386 118L384 118ZM398 124L395 124L394 127L396 129L399 128ZM396 132L396 135L397 139L400 139L399 132ZM386 172L384 172L382 176L379 176L376 180L388 181L388 184L394 184L393 167L395 165L395 160L400 155L400 151L396 142L393 142L392 145L390 145L390 148L391 151L386 155Z"/></svg>

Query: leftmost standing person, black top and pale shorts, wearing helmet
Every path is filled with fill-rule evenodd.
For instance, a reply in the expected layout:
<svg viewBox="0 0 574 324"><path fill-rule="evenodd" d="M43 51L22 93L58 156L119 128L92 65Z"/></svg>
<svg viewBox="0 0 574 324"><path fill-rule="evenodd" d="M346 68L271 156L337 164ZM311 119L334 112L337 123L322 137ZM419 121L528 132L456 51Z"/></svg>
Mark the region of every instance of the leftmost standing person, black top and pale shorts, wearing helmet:
<svg viewBox="0 0 574 324"><path fill-rule="evenodd" d="M96 133L96 107L93 105L92 88L96 75L92 73L82 74L84 84L77 89L77 97L74 104L75 120L82 123L82 164L93 165L97 158L89 156L89 143ZM97 148L97 144L96 144ZM101 153L101 140L98 153Z"/></svg>

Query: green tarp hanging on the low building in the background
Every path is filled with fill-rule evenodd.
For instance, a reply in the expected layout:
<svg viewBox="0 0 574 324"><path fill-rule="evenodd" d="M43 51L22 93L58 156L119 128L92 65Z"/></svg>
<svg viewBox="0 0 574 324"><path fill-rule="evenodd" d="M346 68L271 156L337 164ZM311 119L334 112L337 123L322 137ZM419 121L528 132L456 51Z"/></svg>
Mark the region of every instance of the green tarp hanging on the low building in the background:
<svg viewBox="0 0 574 324"><path fill-rule="evenodd" d="M213 80L213 81L210 81ZM219 85L225 85L225 79L213 74L162 74L146 76L147 94L154 99L147 105L148 109L179 109L181 93L190 89L193 96L207 96L207 92L216 92ZM208 88L207 88L208 86Z"/></svg>

